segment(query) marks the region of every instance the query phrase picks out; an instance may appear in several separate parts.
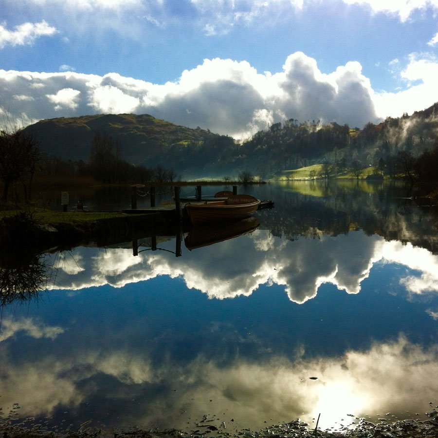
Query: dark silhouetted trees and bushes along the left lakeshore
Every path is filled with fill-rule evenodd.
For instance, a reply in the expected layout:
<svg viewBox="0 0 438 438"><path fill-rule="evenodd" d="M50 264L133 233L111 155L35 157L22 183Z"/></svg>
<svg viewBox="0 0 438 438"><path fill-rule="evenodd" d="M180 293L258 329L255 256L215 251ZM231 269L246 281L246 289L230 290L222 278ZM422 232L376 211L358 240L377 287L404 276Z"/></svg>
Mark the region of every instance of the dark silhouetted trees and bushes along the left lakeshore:
<svg viewBox="0 0 438 438"><path fill-rule="evenodd" d="M32 184L37 177L78 179L84 176L91 176L102 184L144 184L173 182L178 179L173 169L161 165L147 168L128 163L121 157L118 141L106 133L96 133L91 142L90 158L85 162L44 154L40 150L39 140L26 131L0 131L2 203L8 201L11 188L14 188L16 199L20 191L24 201L30 201Z"/></svg>

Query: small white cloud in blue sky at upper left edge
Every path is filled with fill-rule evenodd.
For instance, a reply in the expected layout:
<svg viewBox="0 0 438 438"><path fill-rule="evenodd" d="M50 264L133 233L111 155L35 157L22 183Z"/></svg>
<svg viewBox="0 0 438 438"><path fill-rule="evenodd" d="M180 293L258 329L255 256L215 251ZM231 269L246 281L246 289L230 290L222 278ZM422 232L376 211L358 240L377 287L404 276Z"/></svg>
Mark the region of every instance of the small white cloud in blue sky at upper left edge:
<svg viewBox="0 0 438 438"><path fill-rule="evenodd" d="M23 23L15 26L15 30L8 30L0 24L0 49L6 45L32 44L37 38L50 37L57 33L55 27L42 20L39 23Z"/></svg>

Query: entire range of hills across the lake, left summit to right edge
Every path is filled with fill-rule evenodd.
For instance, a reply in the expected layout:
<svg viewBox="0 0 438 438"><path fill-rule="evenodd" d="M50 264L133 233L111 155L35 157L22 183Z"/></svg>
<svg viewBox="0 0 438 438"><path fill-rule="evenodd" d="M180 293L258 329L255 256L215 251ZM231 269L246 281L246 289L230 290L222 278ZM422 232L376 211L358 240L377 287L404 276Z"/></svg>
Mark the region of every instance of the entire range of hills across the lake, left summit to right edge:
<svg viewBox="0 0 438 438"><path fill-rule="evenodd" d="M151 115L106 114L43 120L25 128L49 156L88 161L96 135L110 138L115 156L136 166L164 166L183 177L234 175L246 169L267 178L283 170L325 163L336 171L373 165L395 172L400 152L418 156L438 136L438 103L368 123L362 129L289 119L237 143L226 135L177 126Z"/></svg>

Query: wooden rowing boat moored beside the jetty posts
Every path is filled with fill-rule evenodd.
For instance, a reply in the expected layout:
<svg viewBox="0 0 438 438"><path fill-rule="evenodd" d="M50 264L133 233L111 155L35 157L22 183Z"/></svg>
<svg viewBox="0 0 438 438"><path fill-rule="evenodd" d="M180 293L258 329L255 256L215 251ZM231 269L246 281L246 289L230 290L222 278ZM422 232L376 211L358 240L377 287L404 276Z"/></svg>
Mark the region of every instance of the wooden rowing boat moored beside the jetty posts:
<svg viewBox="0 0 438 438"><path fill-rule="evenodd" d="M185 210L192 224L204 222L237 221L251 216L260 200L250 195L232 195L222 201L188 203Z"/></svg>

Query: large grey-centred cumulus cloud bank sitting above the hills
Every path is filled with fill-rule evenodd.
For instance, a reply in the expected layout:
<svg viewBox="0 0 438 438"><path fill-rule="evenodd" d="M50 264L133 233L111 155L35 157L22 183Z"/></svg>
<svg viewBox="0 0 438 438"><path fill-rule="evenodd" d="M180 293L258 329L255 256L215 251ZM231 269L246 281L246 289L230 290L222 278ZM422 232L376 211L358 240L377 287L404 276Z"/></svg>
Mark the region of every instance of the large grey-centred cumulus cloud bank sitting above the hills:
<svg viewBox="0 0 438 438"><path fill-rule="evenodd" d="M375 121L373 92L357 62L329 75L297 52L283 71L258 73L246 61L205 59L174 82L109 73L0 70L0 108L24 124L102 113L152 114L184 126L242 137L287 118L363 126Z"/></svg>

